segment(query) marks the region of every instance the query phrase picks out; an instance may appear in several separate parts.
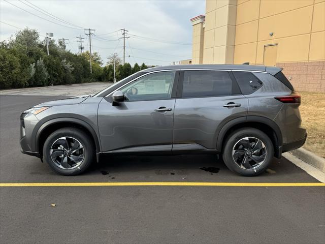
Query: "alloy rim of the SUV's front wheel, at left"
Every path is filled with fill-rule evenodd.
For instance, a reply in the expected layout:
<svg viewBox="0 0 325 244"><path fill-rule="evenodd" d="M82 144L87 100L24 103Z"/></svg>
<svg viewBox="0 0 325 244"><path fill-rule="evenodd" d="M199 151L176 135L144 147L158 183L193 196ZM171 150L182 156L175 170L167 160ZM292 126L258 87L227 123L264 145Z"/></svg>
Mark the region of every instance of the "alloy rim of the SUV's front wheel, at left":
<svg viewBox="0 0 325 244"><path fill-rule="evenodd" d="M84 148L73 137L61 137L54 141L50 150L51 159L62 169L74 169L84 160Z"/></svg>

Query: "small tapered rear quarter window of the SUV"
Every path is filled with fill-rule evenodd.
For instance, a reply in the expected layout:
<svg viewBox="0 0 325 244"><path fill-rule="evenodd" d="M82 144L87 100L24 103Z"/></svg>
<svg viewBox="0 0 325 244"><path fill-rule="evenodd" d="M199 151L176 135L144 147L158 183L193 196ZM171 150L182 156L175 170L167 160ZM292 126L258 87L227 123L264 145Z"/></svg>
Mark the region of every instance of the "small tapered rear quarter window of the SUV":
<svg viewBox="0 0 325 244"><path fill-rule="evenodd" d="M256 78L250 72L234 71L233 72L242 94L251 94L259 87L263 86L262 81Z"/></svg>

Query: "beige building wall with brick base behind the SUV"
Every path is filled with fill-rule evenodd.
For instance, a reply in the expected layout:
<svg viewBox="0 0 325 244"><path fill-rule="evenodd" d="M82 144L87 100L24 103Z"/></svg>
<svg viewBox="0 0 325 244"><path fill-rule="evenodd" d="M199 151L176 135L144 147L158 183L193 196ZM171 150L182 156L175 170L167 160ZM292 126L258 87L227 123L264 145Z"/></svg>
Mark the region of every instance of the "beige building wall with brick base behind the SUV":
<svg viewBox="0 0 325 244"><path fill-rule="evenodd" d="M325 0L206 0L202 64L245 62L325 92Z"/></svg>

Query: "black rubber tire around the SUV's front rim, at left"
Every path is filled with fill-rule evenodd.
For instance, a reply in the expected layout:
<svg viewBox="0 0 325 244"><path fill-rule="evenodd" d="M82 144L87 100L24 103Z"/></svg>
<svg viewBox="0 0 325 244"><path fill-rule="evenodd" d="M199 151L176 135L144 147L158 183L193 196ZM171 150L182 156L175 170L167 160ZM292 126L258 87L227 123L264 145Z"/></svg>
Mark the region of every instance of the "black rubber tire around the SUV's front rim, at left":
<svg viewBox="0 0 325 244"><path fill-rule="evenodd" d="M80 165L75 168L65 169L61 168L59 165L54 163L51 157L51 147L54 142L56 142L61 137L71 137L75 138L82 144L82 161ZM43 146L43 157L48 165L52 168L52 170L61 175L78 175L83 173L95 158L95 148L91 138L87 134L85 134L82 130L77 128L61 128L54 131L45 141Z"/></svg>

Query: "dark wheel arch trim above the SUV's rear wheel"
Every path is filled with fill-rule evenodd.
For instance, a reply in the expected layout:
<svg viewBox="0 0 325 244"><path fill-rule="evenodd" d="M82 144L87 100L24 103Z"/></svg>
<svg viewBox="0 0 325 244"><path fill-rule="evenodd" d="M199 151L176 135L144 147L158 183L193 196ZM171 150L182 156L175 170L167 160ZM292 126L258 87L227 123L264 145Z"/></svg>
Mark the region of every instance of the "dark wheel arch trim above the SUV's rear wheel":
<svg viewBox="0 0 325 244"><path fill-rule="evenodd" d="M233 131L244 127L255 128L267 134L274 146L274 156L281 158L282 133L280 131L280 128L271 119L261 116L239 117L223 125L217 137L217 150L222 151L225 139Z"/></svg>

